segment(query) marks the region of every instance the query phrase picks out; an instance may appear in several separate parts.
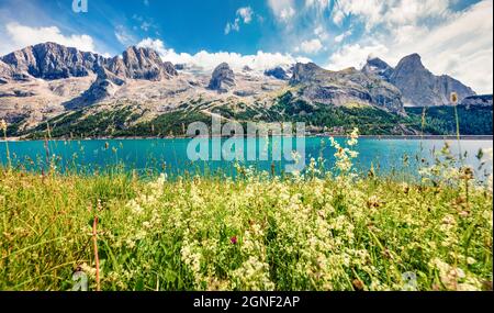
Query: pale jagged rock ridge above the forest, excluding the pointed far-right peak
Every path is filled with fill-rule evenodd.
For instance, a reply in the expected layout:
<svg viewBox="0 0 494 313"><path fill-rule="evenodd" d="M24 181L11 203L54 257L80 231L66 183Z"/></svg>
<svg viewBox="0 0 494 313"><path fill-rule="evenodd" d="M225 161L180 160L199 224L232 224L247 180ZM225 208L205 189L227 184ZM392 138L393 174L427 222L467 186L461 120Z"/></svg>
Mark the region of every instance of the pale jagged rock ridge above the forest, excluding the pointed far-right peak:
<svg viewBox="0 0 494 313"><path fill-rule="evenodd" d="M148 48L128 47L122 56L106 58L47 43L0 58L0 119L14 122L25 133L76 111L86 119L130 110L133 118L120 123L124 127L182 111L207 115L220 110L243 120L272 119L273 114L283 119L288 109L281 102L311 105L300 114L334 107L406 115L402 92L391 83L394 70L382 60L370 62L362 70L340 71L296 64L263 72L245 67L236 72L221 64L209 75L162 62Z"/></svg>

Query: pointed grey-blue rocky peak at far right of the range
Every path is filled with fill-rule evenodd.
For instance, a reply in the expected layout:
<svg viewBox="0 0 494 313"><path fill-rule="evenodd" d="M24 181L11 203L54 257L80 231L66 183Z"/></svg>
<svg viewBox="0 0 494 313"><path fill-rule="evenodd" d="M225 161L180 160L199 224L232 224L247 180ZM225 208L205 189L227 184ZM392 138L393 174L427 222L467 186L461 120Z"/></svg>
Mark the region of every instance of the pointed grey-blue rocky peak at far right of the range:
<svg viewBox="0 0 494 313"><path fill-rule="evenodd" d="M451 92L460 101L475 92L449 76L435 76L422 63L418 54L403 58L390 77L390 82L403 93L408 105L434 107L450 104Z"/></svg>

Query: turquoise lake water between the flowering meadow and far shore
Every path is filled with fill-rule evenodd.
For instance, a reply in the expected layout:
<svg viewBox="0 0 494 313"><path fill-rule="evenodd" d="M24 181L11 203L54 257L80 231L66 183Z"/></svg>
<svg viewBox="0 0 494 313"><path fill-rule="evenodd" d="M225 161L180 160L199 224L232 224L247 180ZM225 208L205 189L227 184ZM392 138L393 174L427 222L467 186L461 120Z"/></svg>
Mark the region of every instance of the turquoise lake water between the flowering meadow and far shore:
<svg viewBox="0 0 494 313"><path fill-rule="evenodd" d="M211 139L203 139L209 143ZM238 146L244 146L244 155L247 155L247 146L251 141L256 142L258 150L262 150L263 139L242 138L237 139ZM341 144L345 139L337 139ZM223 141L224 142L224 141ZM293 141L294 142L294 141ZM115 168L120 165L127 170L138 172L162 172L175 176L184 174L209 175L222 172L223 175L235 175L235 161L210 160L191 161L188 157L188 146L191 139L94 139L94 141L52 141L45 142L10 142L9 150L12 165L27 170L46 170L49 161L55 160L60 171L77 170L79 172L93 172L96 169ZM448 141L454 156L467 154L464 163L479 168L481 161L476 158L479 149L492 148L492 141ZM278 143L270 142L268 160L244 161L244 165L254 166L260 170L277 174L283 171L284 166L291 161L272 160L272 146ZM371 166L379 174L402 175L403 172L416 172L420 164L434 161L434 152L440 150L445 145L442 139L377 139L360 138L356 149L359 157L356 159L356 168L367 172ZM294 144L295 148L295 144ZM239 148L242 150L242 148ZM266 148L265 148L266 150ZM261 152L262 153L262 152ZM266 154L266 152L265 152ZM306 164L311 158L326 159L326 168L334 166L335 149L330 146L328 138L305 138ZM405 163L404 159L407 161ZM48 161L49 160L49 161ZM7 165L5 143L0 142L0 161ZM273 166L274 165L274 166ZM490 160L478 176L492 172L492 160Z"/></svg>

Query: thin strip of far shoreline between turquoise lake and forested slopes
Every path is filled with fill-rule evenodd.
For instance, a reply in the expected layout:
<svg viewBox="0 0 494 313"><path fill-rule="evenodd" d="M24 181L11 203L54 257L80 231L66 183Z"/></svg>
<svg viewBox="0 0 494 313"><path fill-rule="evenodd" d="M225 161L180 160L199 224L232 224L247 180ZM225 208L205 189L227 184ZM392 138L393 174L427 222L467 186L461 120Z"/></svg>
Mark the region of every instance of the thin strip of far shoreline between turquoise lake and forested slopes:
<svg viewBox="0 0 494 313"><path fill-rule="evenodd" d="M346 138L345 135L307 135L306 138ZM382 141L416 141L416 139L425 139L425 141L457 141L458 137L456 135L360 135L360 138L363 139L382 139ZM49 142L89 142L89 141L155 141L155 139L191 139L192 137L186 136L166 136L166 137L148 137L148 136L133 136L133 137L87 137L87 138L50 138ZM204 137L211 138L211 137ZM229 138L223 136L222 138ZM247 137L245 137L247 138ZM493 141L493 135L462 135L460 136L461 141ZM10 137L7 138L7 142L42 142L44 139L23 139L21 137ZM0 143L4 143L4 138L0 139Z"/></svg>

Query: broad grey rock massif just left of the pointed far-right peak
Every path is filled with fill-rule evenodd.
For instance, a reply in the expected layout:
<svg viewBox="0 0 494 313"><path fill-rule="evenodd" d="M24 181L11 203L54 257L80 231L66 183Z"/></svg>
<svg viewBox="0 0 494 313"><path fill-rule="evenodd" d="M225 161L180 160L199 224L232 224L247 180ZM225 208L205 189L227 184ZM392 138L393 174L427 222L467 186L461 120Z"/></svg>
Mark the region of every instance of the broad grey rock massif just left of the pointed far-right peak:
<svg viewBox="0 0 494 313"><path fill-rule="evenodd" d="M333 105L368 103L398 113L404 110L400 90L355 68L329 71L312 63L296 64L290 83L302 87L302 97L311 102Z"/></svg>

